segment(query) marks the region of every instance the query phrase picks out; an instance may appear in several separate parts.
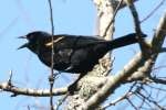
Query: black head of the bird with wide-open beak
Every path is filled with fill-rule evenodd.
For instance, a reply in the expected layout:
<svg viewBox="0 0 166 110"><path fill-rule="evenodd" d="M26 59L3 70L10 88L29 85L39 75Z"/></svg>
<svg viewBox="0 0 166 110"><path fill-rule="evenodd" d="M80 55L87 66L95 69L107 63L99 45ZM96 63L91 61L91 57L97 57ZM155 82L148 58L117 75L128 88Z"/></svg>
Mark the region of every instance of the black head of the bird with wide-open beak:
<svg viewBox="0 0 166 110"><path fill-rule="evenodd" d="M20 36L19 38L25 38L28 40L28 43L21 45L18 50L28 47L32 52L35 52L39 46L43 44L46 37L50 37L51 35L46 32L42 31L35 31L28 33L27 35Z"/></svg>

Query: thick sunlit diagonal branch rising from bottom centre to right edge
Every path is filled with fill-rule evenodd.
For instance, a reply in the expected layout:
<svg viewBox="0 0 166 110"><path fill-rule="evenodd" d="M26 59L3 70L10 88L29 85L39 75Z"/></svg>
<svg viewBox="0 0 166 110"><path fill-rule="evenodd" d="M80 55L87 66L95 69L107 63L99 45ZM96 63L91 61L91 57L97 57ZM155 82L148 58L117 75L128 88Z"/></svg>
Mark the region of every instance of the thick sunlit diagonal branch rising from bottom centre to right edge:
<svg viewBox="0 0 166 110"><path fill-rule="evenodd" d="M162 40L159 42L159 45L153 42L153 44L157 44L158 46L162 47L162 44L164 42L164 36L165 34L160 31L160 30L165 30L166 29L166 13L164 13L164 16L160 19L159 21L159 26L157 28L157 33L155 34L155 37L159 40ZM156 46L156 45L153 45ZM158 47L157 46L157 47ZM149 57L149 59L155 61L157 57L157 55L155 55L154 57ZM82 106L81 108L85 109L85 110L91 110L92 108L95 108L97 105L102 103L111 94L114 92L114 90L121 86L121 84L123 82L123 80L127 79L134 72L137 70L138 67L142 67L144 65L146 65L145 63L145 58L143 57L143 55L139 53L137 54L134 59L132 59L128 65L126 65L124 67L124 69L120 73L116 74L116 76L114 76L113 79L108 79L107 82L104 85L104 87L102 87L101 90L98 90L94 96L92 96L84 106ZM153 63L154 64L154 63Z"/></svg>

